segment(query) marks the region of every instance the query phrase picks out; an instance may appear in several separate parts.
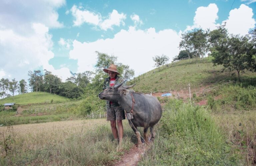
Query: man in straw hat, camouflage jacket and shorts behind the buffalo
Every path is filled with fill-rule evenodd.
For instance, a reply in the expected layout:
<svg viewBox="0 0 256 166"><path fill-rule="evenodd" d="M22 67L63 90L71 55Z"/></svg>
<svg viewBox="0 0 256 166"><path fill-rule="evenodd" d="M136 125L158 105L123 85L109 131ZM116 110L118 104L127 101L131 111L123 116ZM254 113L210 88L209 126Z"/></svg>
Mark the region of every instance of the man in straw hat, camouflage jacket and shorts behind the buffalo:
<svg viewBox="0 0 256 166"><path fill-rule="evenodd" d="M109 75L109 77L106 78L104 81L102 88L103 90L106 90L107 88L116 84L120 84L124 81L122 78L117 76L120 73L117 71L117 66L114 64L110 64L109 68L103 69L103 71L108 73ZM124 109L119 106L118 103L107 101L107 121L110 121L112 133L114 135L114 138L116 140L119 140L119 144L122 143L123 139L123 119L125 119ZM116 128L116 124L118 127L118 131Z"/></svg>

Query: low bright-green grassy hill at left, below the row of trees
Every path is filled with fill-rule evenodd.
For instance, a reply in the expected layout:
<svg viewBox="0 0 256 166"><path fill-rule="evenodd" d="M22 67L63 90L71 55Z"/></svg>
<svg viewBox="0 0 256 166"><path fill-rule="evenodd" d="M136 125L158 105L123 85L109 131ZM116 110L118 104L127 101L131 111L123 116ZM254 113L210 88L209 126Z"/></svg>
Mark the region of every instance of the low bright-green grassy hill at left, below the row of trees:
<svg viewBox="0 0 256 166"><path fill-rule="evenodd" d="M65 102L69 100L70 99L63 96L54 95L47 92L31 92L0 99L0 104L16 103L20 105L27 105L35 103Z"/></svg>

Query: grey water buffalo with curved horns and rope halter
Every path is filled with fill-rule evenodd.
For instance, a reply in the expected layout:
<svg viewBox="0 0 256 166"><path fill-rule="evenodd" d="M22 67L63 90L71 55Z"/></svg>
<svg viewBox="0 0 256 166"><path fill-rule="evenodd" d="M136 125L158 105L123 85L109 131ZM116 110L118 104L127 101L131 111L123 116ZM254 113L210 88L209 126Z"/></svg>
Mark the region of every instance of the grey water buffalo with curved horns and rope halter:
<svg viewBox="0 0 256 166"><path fill-rule="evenodd" d="M132 112L133 119L129 120L129 124L136 134L138 144L140 145L142 142L137 127L144 127L144 139L146 143L149 143L147 130L148 127L150 127L151 140L153 140L155 137L153 127L162 116L161 105L154 96L128 90L135 84L130 86L122 86L122 84L123 83L115 85L99 93L99 98L116 102L122 106L127 113Z"/></svg>

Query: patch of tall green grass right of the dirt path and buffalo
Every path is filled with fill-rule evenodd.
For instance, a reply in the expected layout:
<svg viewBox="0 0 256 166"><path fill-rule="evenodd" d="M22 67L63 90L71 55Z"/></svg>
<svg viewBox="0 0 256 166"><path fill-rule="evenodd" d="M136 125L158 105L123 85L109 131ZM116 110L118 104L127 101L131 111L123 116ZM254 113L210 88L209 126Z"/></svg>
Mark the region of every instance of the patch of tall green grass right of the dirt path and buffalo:
<svg viewBox="0 0 256 166"><path fill-rule="evenodd" d="M215 121L203 107L172 101L157 137L139 165L233 165L238 163Z"/></svg>

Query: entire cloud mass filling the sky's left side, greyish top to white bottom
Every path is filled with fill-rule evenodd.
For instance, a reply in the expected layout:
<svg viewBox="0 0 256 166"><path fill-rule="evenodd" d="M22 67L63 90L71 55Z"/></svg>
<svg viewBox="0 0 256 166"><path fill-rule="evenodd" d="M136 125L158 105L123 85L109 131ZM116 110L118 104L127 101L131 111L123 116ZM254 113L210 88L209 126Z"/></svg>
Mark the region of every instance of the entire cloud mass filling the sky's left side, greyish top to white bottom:
<svg viewBox="0 0 256 166"><path fill-rule="evenodd" d="M28 79L28 71L46 69L65 80L68 68L55 70L49 65L54 57L49 28L60 28L56 10L65 0L1 1L0 5L0 78ZM68 40L66 40L66 47Z"/></svg>

